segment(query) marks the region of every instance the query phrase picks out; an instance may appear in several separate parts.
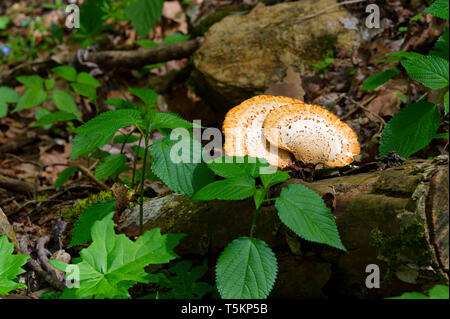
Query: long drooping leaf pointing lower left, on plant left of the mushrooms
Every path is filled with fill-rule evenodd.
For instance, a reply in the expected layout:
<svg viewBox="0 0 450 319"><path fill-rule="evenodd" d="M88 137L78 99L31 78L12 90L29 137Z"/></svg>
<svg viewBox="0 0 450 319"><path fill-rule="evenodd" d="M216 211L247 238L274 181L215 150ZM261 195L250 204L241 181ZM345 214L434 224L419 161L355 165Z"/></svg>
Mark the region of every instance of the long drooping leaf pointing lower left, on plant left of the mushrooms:
<svg viewBox="0 0 450 319"><path fill-rule="evenodd" d="M137 110L115 110L104 112L87 123L73 129L80 133L72 140L70 159L89 153L96 147L102 147L113 138L120 128L136 125L141 121Z"/></svg>

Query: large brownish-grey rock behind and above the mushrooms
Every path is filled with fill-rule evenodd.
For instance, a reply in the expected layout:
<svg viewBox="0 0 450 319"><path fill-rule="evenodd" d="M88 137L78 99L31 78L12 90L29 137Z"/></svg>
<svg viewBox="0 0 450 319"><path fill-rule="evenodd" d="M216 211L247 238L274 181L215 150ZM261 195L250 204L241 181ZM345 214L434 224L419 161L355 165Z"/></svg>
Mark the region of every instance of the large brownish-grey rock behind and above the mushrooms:
<svg viewBox="0 0 450 319"><path fill-rule="evenodd" d="M335 4L336 0L302 0L255 7L214 24L194 55L191 82L196 92L226 111L281 81L288 67L304 73L335 47L351 53L356 32L340 22L351 18L346 9L304 18Z"/></svg>

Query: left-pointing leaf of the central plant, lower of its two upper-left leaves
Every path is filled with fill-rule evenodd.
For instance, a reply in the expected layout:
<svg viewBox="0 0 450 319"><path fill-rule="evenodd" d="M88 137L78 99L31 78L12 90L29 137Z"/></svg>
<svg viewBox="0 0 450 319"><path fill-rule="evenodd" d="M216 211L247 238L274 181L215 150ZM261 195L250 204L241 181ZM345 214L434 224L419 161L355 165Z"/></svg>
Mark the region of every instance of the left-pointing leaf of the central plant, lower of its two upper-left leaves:
<svg viewBox="0 0 450 319"><path fill-rule="evenodd" d="M240 200L253 196L255 180L248 177L233 177L212 182L192 196L192 200Z"/></svg>

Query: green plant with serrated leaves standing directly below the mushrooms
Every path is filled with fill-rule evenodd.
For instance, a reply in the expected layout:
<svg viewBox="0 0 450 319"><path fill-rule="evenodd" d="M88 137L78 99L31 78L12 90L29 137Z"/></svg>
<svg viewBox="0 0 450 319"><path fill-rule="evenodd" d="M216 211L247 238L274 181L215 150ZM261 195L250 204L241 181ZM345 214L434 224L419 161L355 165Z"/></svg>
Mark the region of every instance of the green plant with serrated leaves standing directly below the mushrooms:
<svg viewBox="0 0 450 319"><path fill-rule="evenodd" d="M225 179L206 185L192 196L192 200L253 197L255 203L249 237L232 241L217 262L217 288L222 298L266 298L275 282L275 254L266 243L254 238L263 202L275 201L281 221L300 237L345 251L333 215L314 191L300 184L291 184L282 189L279 197L266 198L270 187L289 178L287 172L263 173L268 168L267 163L248 156L222 157L207 165ZM256 178L261 180L261 185L256 185Z"/></svg>

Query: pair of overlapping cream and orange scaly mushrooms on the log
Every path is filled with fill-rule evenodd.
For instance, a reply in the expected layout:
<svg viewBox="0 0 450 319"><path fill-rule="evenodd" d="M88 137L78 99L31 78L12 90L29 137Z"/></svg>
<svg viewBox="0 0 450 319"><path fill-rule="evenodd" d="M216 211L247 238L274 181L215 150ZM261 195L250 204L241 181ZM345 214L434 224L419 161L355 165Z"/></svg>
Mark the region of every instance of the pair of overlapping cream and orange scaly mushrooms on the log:
<svg viewBox="0 0 450 319"><path fill-rule="evenodd" d="M285 96L245 100L228 111L222 130L226 155L265 158L280 169L295 160L341 167L359 154L356 133L336 115Z"/></svg>

